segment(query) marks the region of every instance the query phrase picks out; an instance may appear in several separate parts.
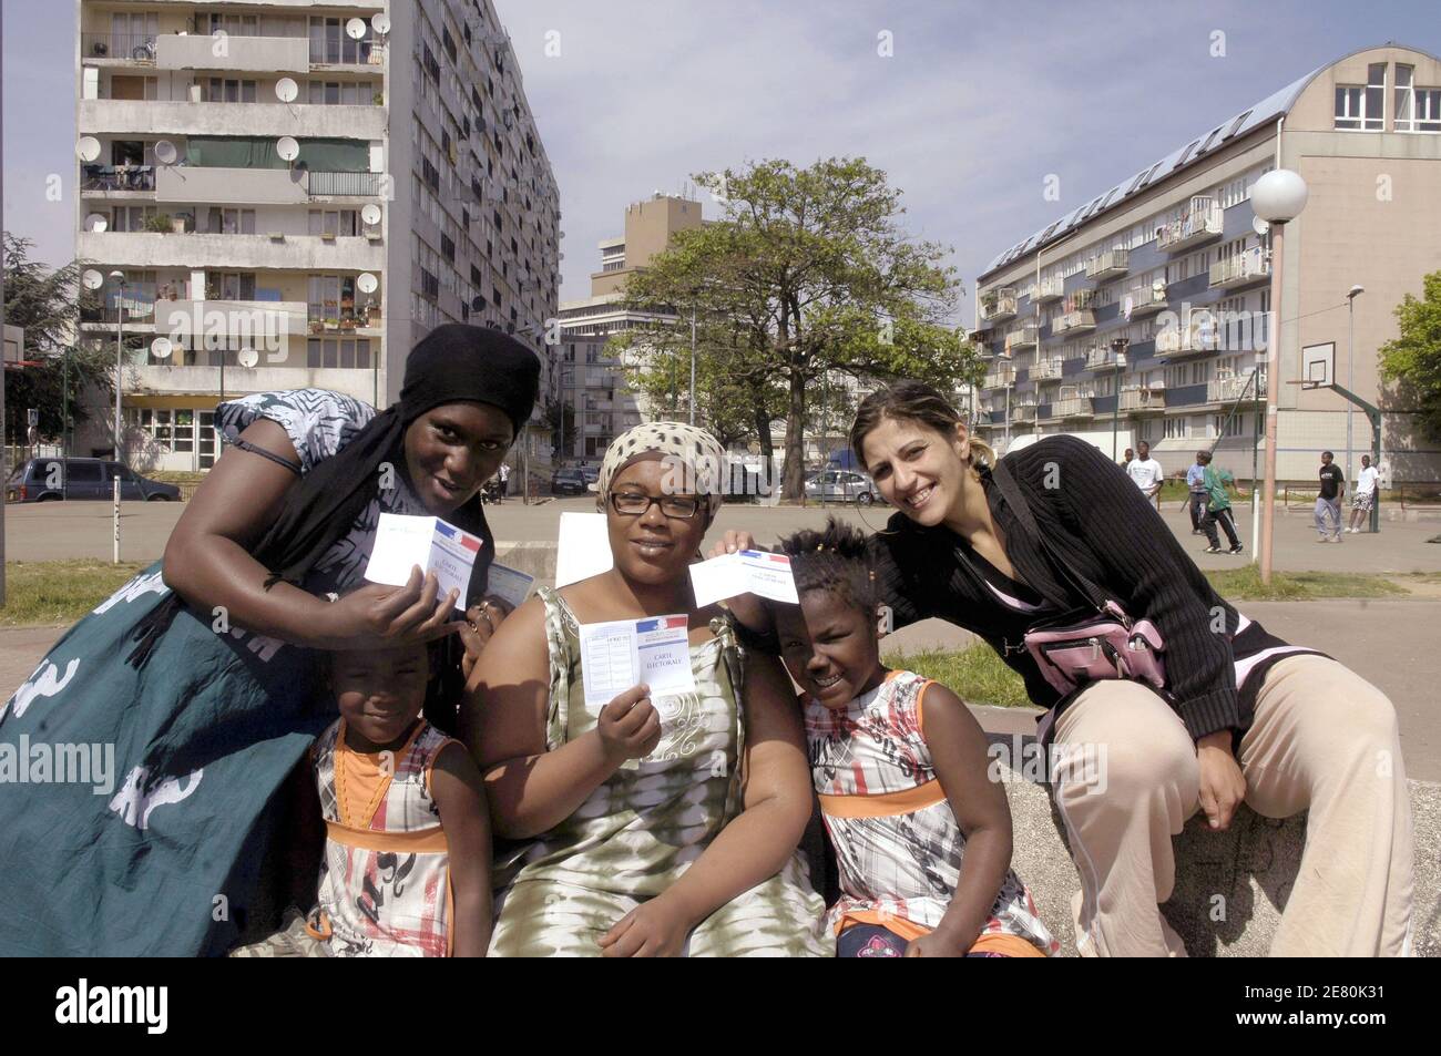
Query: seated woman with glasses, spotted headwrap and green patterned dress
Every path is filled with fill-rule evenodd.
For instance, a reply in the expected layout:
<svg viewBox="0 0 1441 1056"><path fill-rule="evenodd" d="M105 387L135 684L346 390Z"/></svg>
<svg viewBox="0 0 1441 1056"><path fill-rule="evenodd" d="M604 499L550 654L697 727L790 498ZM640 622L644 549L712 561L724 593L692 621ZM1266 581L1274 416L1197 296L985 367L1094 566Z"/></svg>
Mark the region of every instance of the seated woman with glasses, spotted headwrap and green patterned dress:
<svg viewBox="0 0 1441 1056"><path fill-rule="evenodd" d="M461 736L497 836L493 955L831 954L795 851L811 792L790 684L690 588L723 458L676 422L618 437L597 481L614 568L542 589L481 654ZM696 690L586 704L579 625L672 614Z"/></svg>

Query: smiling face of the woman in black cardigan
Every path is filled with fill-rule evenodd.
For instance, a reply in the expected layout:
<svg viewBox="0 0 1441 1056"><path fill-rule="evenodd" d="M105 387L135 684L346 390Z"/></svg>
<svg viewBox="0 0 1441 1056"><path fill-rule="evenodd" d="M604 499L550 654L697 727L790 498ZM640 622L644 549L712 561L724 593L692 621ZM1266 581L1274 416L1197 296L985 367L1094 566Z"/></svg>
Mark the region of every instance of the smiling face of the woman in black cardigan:
<svg viewBox="0 0 1441 1056"><path fill-rule="evenodd" d="M951 435L905 418L883 418L862 444L866 470L892 506L934 527L964 509L968 487L978 487L965 461L965 426Z"/></svg>

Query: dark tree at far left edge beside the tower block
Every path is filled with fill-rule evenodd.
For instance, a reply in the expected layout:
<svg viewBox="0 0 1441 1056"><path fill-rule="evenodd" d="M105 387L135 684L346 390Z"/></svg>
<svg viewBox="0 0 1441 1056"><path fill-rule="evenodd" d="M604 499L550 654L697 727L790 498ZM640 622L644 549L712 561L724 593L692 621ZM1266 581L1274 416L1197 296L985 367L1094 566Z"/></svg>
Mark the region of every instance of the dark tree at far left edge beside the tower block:
<svg viewBox="0 0 1441 1056"><path fill-rule="evenodd" d="M79 264L52 269L30 259L30 239L10 232L3 239L4 321L24 327L26 349L40 353L35 366L4 372L6 439L23 444L29 408L40 411L42 435L59 437L66 411L73 431L95 406L107 406L115 393L115 360L101 349L72 344Z"/></svg>

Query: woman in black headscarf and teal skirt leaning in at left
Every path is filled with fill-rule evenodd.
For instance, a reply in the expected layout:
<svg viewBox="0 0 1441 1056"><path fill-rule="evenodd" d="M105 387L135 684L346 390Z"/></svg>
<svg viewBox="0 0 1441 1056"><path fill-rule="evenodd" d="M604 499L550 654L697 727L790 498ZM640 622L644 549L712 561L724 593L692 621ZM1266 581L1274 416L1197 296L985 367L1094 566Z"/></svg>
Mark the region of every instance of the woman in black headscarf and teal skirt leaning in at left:
<svg viewBox="0 0 1441 1056"><path fill-rule="evenodd" d="M220 952L275 923L261 879L284 869L264 854L287 775L333 717L323 651L448 638L427 712L450 725L461 668L506 614L486 596L494 543L478 491L537 377L514 339L451 324L412 350L401 401L380 413L320 389L218 408L231 447L163 562L0 709L0 748L98 749L94 781L0 797L0 860L16 866L0 885L0 954ZM480 536L468 596L441 596L419 570L403 588L362 585L380 513Z"/></svg>

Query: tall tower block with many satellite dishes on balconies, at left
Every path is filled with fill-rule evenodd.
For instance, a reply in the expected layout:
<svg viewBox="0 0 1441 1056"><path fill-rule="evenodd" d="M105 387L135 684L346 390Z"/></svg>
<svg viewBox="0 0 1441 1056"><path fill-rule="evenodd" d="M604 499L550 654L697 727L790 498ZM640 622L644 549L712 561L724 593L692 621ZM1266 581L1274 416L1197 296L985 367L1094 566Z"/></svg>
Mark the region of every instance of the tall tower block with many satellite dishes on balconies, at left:
<svg viewBox="0 0 1441 1056"><path fill-rule="evenodd" d="M222 395L386 406L441 323L545 359L559 194L488 0L76 14L76 256L102 282L81 331L127 347L133 462L209 468ZM520 449L545 435L537 411Z"/></svg>

